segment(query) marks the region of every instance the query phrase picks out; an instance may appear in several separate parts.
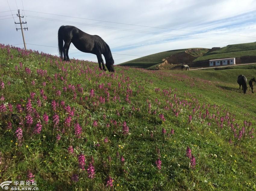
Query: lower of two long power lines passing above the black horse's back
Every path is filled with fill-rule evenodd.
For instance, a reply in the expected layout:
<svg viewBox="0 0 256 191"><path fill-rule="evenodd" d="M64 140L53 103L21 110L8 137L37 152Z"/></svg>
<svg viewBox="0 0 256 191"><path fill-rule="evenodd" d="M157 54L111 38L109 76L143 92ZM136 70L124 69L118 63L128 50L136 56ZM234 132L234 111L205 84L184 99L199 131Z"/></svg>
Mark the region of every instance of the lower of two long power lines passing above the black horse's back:
<svg viewBox="0 0 256 191"><path fill-rule="evenodd" d="M102 25L93 25L93 24L87 24L87 23L81 23L81 22L64 21L64 20L60 20L60 19L52 19L52 18L32 16L32 15L27 15L27 17L35 18L35 19L44 19L44 20L50 20L50 21L57 21L57 22L66 22L66 23L79 24L79 25L86 25L86 26L93 26L93 27L98 27L98 28L108 28L108 29L114 29L114 30L120 30L120 31L130 31L130 32L136 32L136 33L144 33L144 34L157 34L157 35L163 35L163 36L185 37L185 38L194 38L194 39L203 39L203 40L215 40L215 41L222 41L222 42L250 43L250 42L247 42L247 41L239 41L239 40L223 40L223 39L206 38L206 37L192 37L192 36L187 36L187 35L166 34L166 33L150 32L150 31L139 31L139 30L133 30L133 29L108 27L108 26L102 26Z"/></svg>

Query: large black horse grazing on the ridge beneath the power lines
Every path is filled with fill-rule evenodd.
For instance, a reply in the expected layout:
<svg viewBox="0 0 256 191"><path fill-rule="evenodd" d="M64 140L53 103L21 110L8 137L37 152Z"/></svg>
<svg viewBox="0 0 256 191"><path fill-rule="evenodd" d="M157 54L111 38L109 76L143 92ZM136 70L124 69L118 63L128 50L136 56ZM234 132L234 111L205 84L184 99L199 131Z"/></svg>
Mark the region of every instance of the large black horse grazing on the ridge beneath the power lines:
<svg viewBox="0 0 256 191"><path fill-rule="evenodd" d="M61 26L58 30L59 54L61 58L64 56L64 60L67 61L69 61L68 49L71 43L73 43L73 45L82 52L95 54L98 58L100 69L102 64L103 70L106 71L104 61L101 56L101 54L103 54L108 71L114 72L114 60L110 48L101 37L98 35L87 34L74 26Z"/></svg>

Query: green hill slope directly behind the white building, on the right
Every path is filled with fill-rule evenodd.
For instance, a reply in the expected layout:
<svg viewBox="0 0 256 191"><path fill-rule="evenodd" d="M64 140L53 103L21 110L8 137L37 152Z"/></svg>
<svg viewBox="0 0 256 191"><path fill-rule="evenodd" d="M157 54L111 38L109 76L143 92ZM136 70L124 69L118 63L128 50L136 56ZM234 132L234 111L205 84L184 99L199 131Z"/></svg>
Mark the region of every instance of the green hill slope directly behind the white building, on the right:
<svg viewBox="0 0 256 191"><path fill-rule="evenodd" d="M209 52L196 58L194 61L218 59L218 58L234 58L241 56L255 56L256 55L256 42L244 43L244 44L233 44L228 45L220 50Z"/></svg>

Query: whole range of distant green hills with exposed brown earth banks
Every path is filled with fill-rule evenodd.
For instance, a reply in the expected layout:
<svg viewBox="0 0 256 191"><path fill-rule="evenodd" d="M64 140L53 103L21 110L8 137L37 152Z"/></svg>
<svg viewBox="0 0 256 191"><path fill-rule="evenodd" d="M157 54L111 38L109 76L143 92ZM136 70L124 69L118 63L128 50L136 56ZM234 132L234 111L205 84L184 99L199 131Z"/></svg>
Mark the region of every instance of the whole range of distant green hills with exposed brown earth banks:
<svg viewBox="0 0 256 191"><path fill-rule="evenodd" d="M236 57L236 63L256 61L256 42L228 45L223 48L190 48L171 50L148 55L120 64L121 66L170 69L177 64L188 63L191 67L208 66L208 60Z"/></svg>

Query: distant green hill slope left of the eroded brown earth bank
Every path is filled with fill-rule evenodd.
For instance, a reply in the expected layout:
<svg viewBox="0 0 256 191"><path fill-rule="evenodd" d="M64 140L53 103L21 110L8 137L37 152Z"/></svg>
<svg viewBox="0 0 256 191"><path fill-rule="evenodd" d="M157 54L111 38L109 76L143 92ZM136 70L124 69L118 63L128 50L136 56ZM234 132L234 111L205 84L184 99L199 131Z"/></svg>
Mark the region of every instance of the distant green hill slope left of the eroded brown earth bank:
<svg viewBox="0 0 256 191"><path fill-rule="evenodd" d="M195 50L197 49L197 50ZM185 52L186 50L189 49L177 49L177 50L170 50L170 51L165 51L165 52L159 52L156 54L144 56L142 58L137 58L128 62L124 62L122 66L130 66L130 67L141 67L141 68L149 68L149 67L155 67L155 65L160 64L163 62L163 59L170 57L172 55L175 55L180 52ZM201 49L201 48L193 48L192 50L188 51L188 54L192 56L200 56L203 55L205 52L207 52L208 49Z"/></svg>

